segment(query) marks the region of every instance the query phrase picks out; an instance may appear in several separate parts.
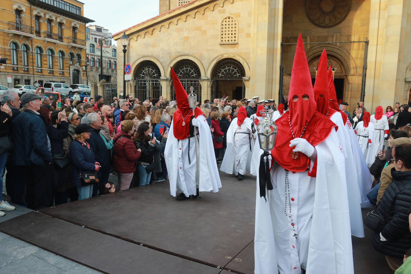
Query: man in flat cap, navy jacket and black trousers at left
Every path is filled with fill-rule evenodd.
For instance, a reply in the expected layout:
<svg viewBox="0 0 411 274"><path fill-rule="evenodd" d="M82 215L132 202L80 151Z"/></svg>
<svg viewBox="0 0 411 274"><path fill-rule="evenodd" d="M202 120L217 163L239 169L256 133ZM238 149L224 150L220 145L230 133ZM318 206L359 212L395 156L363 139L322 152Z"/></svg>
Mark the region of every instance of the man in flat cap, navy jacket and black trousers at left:
<svg viewBox="0 0 411 274"><path fill-rule="evenodd" d="M26 182L25 200L32 210L50 206L51 146L44 117L40 110L42 97L26 92L21 96L25 110L14 119L12 163L18 166L18 181ZM16 182L16 181L15 181ZM19 186L20 193L23 186ZM14 191L13 191L14 192ZM16 193L14 193L15 195Z"/></svg>

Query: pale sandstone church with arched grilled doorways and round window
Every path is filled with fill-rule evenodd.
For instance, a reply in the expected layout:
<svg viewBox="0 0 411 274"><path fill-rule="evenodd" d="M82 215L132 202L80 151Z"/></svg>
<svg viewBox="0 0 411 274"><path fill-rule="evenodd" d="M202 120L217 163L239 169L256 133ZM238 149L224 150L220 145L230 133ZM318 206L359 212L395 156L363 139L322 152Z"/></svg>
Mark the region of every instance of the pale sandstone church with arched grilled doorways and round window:
<svg viewBox="0 0 411 274"><path fill-rule="evenodd" d="M405 0L159 0L159 16L125 29L127 94L174 97L170 67L201 99L287 98L298 34L312 78L326 48L350 112L409 102L411 2ZM118 40L122 35L113 35ZM120 40L118 40L120 41ZM122 54L118 74L123 73ZM118 77L118 90L122 90Z"/></svg>

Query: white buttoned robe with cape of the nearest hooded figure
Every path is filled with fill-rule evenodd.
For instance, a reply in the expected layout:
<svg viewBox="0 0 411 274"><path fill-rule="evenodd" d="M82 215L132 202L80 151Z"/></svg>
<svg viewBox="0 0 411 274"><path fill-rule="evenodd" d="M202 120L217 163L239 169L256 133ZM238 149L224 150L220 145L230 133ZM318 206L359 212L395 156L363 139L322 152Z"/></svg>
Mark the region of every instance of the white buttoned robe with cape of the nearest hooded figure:
<svg viewBox="0 0 411 274"><path fill-rule="evenodd" d="M288 172L275 163L270 173L274 189L268 191L267 201L259 195L257 173L256 274L299 274L300 267L307 274L354 273L344 155L336 132L315 148L316 177L309 177L307 170ZM261 153L254 154L253 162L260 161Z"/></svg>

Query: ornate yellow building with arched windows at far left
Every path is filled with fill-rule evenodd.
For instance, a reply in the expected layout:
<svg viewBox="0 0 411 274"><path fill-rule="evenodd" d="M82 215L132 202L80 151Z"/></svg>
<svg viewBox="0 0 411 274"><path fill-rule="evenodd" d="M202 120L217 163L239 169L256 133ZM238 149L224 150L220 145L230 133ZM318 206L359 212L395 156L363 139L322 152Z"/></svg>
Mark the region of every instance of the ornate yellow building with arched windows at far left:
<svg viewBox="0 0 411 274"><path fill-rule="evenodd" d="M76 0L0 0L0 85L46 81L85 83L84 3ZM7 77L7 76L11 76ZM7 78L9 82L7 83Z"/></svg>

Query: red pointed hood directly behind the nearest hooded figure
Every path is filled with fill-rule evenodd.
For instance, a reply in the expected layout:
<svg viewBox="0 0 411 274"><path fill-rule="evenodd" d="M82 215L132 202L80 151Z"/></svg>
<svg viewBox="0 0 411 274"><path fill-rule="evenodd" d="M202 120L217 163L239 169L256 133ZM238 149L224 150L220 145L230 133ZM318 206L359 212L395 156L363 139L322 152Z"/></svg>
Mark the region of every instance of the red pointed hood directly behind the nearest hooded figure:
<svg viewBox="0 0 411 274"><path fill-rule="evenodd" d="M328 91L328 71L327 71L327 53L323 50L318 63L317 75L314 83L314 96L317 103L317 111L327 116L330 111Z"/></svg>

